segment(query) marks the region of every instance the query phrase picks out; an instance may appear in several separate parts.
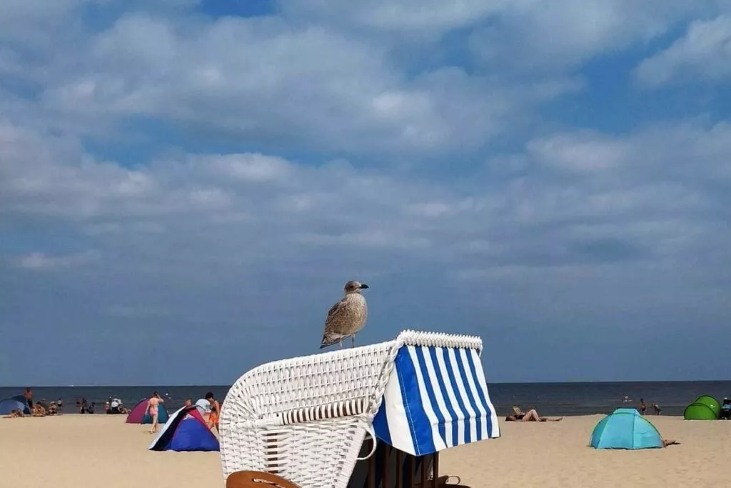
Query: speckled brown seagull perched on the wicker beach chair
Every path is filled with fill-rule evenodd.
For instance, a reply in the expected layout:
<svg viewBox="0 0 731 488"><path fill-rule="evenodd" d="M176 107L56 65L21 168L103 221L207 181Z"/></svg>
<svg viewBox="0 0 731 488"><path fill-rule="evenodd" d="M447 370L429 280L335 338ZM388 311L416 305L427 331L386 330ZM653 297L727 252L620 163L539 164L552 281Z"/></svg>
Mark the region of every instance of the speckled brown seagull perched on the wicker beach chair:
<svg viewBox="0 0 731 488"><path fill-rule="evenodd" d="M333 305L330 312L327 312L320 349L337 342L342 348L343 341L348 337L352 340L352 347L355 348L355 334L363 329L368 319L368 304L366 298L360 294L360 290L366 288L368 285L357 281L345 284L345 296Z"/></svg>

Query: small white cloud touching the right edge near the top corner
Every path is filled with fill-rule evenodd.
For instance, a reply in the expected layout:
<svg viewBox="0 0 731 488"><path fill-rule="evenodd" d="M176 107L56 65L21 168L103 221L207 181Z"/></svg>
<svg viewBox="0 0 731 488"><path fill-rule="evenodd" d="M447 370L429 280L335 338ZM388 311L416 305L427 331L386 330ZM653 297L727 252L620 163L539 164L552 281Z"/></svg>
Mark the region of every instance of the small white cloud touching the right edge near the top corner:
<svg viewBox="0 0 731 488"><path fill-rule="evenodd" d="M681 39L645 59L635 78L658 87L681 81L718 83L731 79L731 16L695 20Z"/></svg>

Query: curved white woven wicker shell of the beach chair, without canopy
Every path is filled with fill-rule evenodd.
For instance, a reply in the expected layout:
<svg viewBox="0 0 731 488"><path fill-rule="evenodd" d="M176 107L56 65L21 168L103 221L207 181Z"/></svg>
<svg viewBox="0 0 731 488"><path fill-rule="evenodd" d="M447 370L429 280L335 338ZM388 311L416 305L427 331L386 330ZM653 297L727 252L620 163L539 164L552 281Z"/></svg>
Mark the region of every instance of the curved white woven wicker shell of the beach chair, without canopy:
<svg viewBox="0 0 731 488"><path fill-rule="evenodd" d="M382 342L246 372L221 407L224 478L260 470L302 487L346 486L394 347Z"/></svg>

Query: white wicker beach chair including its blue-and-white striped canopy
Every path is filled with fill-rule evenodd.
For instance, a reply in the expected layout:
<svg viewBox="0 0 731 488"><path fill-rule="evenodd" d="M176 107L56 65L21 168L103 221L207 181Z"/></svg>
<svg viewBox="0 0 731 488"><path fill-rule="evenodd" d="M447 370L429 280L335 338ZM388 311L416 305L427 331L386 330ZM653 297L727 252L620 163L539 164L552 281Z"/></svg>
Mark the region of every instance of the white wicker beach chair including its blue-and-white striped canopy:
<svg viewBox="0 0 731 488"><path fill-rule="evenodd" d="M224 479L261 471L298 487L346 488L376 438L424 456L499 437L481 352L479 337L404 331L251 369L221 406ZM366 433L373 441L361 452Z"/></svg>

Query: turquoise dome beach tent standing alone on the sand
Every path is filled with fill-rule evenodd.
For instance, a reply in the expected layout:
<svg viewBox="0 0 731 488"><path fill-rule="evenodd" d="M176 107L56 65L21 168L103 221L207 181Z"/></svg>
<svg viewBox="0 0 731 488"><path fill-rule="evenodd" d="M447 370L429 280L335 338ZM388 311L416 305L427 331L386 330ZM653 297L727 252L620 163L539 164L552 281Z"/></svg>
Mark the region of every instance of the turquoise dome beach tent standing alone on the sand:
<svg viewBox="0 0 731 488"><path fill-rule="evenodd" d="M662 436L635 408L618 408L599 421L591 432L597 449L647 449L662 446Z"/></svg>

